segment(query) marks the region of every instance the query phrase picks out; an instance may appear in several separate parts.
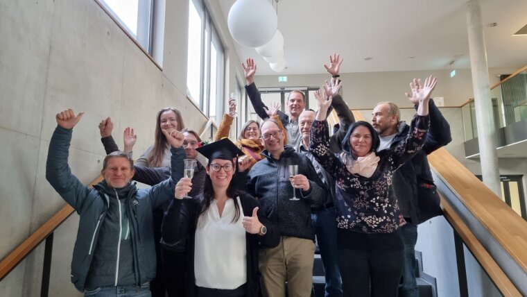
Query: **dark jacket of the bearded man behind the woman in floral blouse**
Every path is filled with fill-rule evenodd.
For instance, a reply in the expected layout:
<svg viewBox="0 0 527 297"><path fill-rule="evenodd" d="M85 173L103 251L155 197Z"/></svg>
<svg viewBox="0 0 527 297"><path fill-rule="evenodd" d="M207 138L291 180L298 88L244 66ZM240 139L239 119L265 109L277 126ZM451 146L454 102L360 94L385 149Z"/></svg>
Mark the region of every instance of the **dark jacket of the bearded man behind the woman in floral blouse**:
<svg viewBox="0 0 527 297"><path fill-rule="evenodd" d="M433 183L430 164L426 156L452 141L450 125L442 116L439 108L435 106L433 100L429 101L429 119L429 133L426 135L422 151L395 171L390 189L390 196L397 198L403 217L407 221L409 219L414 225L434 216L433 213L427 211L433 205L420 207L419 196L417 195L419 183ZM399 122L398 133L390 147L393 148L404 141L409 129L410 126L404 121Z"/></svg>

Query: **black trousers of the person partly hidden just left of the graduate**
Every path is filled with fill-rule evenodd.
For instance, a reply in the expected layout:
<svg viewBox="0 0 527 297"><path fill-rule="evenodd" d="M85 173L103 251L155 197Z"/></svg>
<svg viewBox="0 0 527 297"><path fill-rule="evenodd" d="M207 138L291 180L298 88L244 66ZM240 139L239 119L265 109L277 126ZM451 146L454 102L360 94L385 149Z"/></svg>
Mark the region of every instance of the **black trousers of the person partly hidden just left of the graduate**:
<svg viewBox="0 0 527 297"><path fill-rule="evenodd" d="M163 278L169 297L185 297L187 276L187 252L174 252L161 249L163 257Z"/></svg>

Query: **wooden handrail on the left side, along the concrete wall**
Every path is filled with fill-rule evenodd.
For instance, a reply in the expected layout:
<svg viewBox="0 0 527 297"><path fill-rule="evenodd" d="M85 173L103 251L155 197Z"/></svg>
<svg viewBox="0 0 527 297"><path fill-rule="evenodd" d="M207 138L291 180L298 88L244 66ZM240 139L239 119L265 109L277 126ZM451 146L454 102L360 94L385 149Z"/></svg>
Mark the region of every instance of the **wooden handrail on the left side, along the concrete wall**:
<svg viewBox="0 0 527 297"><path fill-rule="evenodd" d="M99 176L89 187L93 187L97 183L103 180L103 176ZM31 253L46 237L48 237L53 231L55 231L62 222L64 222L74 212L73 207L69 204L64 205L51 219L46 221L40 228L38 228L32 235L30 235L24 242L17 246L9 255L4 257L0 262L0 280L8 275L12 269L22 261L24 258Z"/></svg>

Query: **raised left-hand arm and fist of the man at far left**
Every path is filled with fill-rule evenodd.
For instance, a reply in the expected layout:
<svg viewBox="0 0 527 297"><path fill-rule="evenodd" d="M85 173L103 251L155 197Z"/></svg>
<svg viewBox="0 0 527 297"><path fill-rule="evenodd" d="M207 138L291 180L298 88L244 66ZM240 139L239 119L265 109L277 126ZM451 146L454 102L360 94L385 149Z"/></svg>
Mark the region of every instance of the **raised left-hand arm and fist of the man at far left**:
<svg viewBox="0 0 527 297"><path fill-rule="evenodd" d="M74 110L71 109L56 114L58 126L51 136L46 161L46 180L77 212L82 209L89 189L71 173L68 157L73 128L81 117L83 112L75 115Z"/></svg>

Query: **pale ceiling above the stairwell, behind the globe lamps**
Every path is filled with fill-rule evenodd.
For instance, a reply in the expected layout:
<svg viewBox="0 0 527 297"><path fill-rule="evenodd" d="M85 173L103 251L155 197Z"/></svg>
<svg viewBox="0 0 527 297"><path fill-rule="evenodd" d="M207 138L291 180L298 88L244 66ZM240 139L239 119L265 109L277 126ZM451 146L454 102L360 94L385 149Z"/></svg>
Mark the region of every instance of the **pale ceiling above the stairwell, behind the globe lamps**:
<svg viewBox="0 0 527 297"><path fill-rule="evenodd" d="M527 1L480 2L489 67L527 65L527 36L512 36L527 24ZM219 3L226 21L234 0ZM470 67L467 1L279 0L277 6L283 74L325 73L334 52L345 60L343 73ZM492 22L498 26L487 26ZM254 58L257 74L277 74L254 49L234 43L241 59Z"/></svg>

